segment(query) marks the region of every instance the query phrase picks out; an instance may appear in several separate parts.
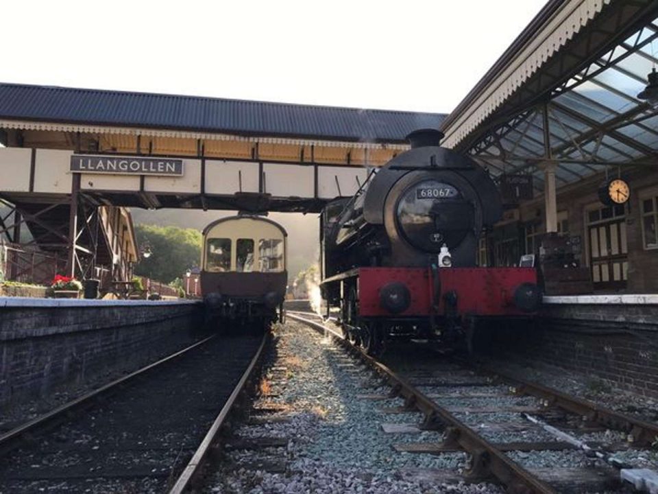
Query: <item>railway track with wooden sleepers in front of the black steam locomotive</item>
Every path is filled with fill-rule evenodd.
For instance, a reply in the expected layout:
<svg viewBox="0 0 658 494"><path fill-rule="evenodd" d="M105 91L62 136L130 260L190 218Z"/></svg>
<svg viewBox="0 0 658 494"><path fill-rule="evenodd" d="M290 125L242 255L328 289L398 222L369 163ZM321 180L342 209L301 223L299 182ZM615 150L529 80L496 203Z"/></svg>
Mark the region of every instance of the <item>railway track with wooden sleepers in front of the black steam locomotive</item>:
<svg viewBox="0 0 658 494"><path fill-rule="evenodd" d="M422 414L422 420L416 424L393 422L382 427L388 427L390 432L444 432L440 443L407 442L395 445L395 449L422 454L467 451L467 480L495 478L511 493L616 491L621 488L618 469L626 465L610 461L611 452L630 446L646 447L657 436L658 427L653 423L602 409L545 386L493 374L491 370L476 373L465 364L437 364L435 355L428 359L428 366L418 360L407 362L406 367L395 361L387 366L355 349L317 318L309 320L308 314L301 315L289 312L293 320L333 333L348 351L389 384L389 395L372 395L369 399L374 403L391 396L404 399L404 405L386 408L384 412L402 414L417 410ZM497 423L487 421L491 414L497 417ZM602 438L607 428L624 432L627 440L592 443L578 438ZM511 440L500 439L510 437ZM574 458L574 464L587 467L536 467L536 459L535 466L526 467L538 455L544 455L548 463L551 455ZM434 475L437 482L445 477L441 472L424 475Z"/></svg>

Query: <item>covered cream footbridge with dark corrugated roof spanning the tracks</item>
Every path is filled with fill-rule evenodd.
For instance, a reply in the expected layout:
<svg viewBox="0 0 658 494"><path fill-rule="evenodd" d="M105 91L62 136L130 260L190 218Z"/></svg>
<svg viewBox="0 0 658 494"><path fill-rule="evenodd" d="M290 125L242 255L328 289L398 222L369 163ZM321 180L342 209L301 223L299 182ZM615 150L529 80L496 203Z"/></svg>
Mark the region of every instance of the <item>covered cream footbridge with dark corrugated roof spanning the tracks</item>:
<svg viewBox="0 0 658 494"><path fill-rule="evenodd" d="M0 237L121 279L135 242L113 209L317 212L444 116L0 84Z"/></svg>

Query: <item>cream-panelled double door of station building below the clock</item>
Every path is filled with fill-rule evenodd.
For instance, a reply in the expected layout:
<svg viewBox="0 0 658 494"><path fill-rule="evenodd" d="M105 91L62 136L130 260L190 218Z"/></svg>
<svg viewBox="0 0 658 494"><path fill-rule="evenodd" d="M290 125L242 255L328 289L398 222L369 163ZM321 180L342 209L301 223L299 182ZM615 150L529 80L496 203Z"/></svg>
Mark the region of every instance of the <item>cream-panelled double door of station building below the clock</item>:
<svg viewBox="0 0 658 494"><path fill-rule="evenodd" d="M626 288L629 262L626 245L626 212L623 206L587 212L589 266L594 289Z"/></svg>

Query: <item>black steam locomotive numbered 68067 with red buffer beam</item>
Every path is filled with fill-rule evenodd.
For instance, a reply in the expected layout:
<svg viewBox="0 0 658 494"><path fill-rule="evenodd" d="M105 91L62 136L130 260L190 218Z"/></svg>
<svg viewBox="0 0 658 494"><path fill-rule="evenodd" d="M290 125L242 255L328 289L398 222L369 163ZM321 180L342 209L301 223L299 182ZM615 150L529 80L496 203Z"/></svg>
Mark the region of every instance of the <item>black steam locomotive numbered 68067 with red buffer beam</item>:
<svg viewBox="0 0 658 494"><path fill-rule="evenodd" d="M471 342L481 322L539 306L534 268L476 267L502 200L489 174L441 148L442 137L412 132L411 150L321 213L321 293L367 353L398 337Z"/></svg>

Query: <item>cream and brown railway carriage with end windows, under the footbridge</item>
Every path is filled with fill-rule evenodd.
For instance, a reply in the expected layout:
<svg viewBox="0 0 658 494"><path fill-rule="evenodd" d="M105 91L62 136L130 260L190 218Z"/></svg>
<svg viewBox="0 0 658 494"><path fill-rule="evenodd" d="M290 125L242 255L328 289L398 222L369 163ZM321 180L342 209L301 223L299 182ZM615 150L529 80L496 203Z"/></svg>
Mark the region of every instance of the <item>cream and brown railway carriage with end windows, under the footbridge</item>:
<svg viewBox="0 0 658 494"><path fill-rule="evenodd" d="M267 327L281 320L288 281L287 232L256 215L226 217L203 232L206 325Z"/></svg>

